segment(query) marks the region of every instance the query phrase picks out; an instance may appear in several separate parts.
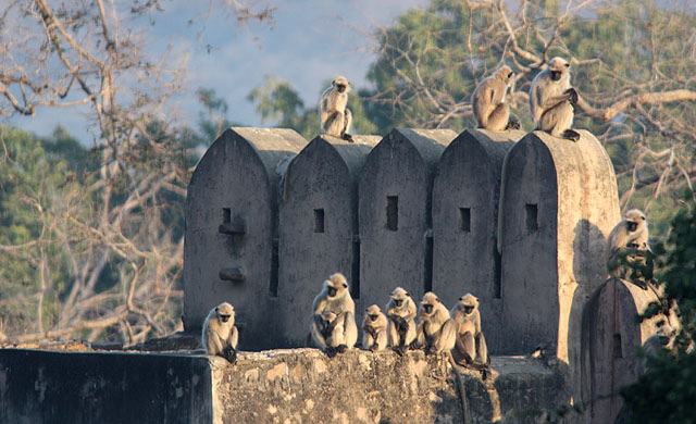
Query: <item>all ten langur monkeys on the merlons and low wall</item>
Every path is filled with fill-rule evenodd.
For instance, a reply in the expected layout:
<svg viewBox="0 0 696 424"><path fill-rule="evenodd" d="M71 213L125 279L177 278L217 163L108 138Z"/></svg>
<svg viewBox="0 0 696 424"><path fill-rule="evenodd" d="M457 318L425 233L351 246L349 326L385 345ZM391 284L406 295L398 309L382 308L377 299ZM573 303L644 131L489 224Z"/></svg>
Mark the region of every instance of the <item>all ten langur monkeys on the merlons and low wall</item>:
<svg viewBox="0 0 696 424"><path fill-rule="evenodd" d="M577 141L580 134L571 129L577 92L570 84L569 71L567 60L551 59L532 82L530 109L536 129ZM512 70L504 65L474 89L472 104L480 127L496 132L520 128L520 123L510 117L505 101L513 76ZM352 114L346 108L349 91L350 83L345 77L334 79L322 95L320 119L326 134L352 141L348 134ZM610 275L624 277L625 267L621 262L645 263L649 251L645 214L637 209L627 211L607 240L606 260ZM428 354L451 352L453 361L464 366L485 369L490 363L481 331L478 300L471 294L462 296L448 311L439 298L428 291L423 295L417 311L411 295L397 287L391 291L385 311L386 314L376 304L365 310L363 349L381 351L391 347L401 356L407 349L424 349ZM343 274L336 273L326 279L314 299L308 339L330 357L345 352L358 341L356 305ZM202 345L208 354L221 356L234 363L237 341L235 310L227 302L221 303L206 319Z"/></svg>

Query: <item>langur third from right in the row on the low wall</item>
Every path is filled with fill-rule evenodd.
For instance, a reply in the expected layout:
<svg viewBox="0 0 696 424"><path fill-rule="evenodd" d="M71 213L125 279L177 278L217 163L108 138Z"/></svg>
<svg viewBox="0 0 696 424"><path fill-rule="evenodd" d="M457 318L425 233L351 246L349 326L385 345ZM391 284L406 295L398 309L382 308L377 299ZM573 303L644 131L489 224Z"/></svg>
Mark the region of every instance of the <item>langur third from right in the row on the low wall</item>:
<svg viewBox="0 0 696 424"><path fill-rule="evenodd" d="M391 299L384 308L389 320L387 326L389 346L399 356L403 356L406 349L415 340L415 303L411 295L401 287L395 288L390 297Z"/></svg>

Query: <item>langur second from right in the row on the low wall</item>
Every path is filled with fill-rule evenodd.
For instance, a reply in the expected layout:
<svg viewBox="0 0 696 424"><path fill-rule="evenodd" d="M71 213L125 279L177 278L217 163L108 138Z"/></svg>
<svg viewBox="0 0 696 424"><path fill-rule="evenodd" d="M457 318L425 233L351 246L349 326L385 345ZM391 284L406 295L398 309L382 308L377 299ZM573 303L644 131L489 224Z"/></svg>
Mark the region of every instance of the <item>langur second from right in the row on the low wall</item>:
<svg viewBox="0 0 696 424"><path fill-rule="evenodd" d="M425 354L449 352L455 347L457 324L449 311L432 291L423 295L418 311L415 346L424 347Z"/></svg>

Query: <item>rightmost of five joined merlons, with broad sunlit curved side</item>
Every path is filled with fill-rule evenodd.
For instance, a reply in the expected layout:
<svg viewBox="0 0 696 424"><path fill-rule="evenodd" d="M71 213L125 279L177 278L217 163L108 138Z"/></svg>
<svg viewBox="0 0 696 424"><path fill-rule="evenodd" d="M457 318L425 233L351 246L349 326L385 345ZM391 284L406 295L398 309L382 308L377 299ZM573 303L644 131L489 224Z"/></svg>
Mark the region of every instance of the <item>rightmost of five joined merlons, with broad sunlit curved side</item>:
<svg viewBox="0 0 696 424"><path fill-rule="evenodd" d="M546 346L577 382L582 310L607 276L605 238L619 222L613 166L599 141L526 135L502 170L502 352ZM577 399L579 385L574 395Z"/></svg>

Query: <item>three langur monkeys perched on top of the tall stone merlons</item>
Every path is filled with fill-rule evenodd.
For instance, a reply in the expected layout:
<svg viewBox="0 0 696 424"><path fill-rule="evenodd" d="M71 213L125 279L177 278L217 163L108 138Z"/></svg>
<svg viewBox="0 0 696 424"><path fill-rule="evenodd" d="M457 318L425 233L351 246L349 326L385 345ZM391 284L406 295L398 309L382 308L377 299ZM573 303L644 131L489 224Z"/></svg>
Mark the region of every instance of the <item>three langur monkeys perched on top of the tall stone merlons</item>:
<svg viewBox="0 0 696 424"><path fill-rule="evenodd" d="M478 127L494 132L520 128L520 122L510 117L510 108L505 101L513 77L510 66L504 65L476 86L471 103ZM348 134L352 113L346 108L349 91L348 79L343 76L334 79L322 95L319 117L326 134L352 141ZM580 134L571 129L576 104L577 91L570 84L570 63L562 58L551 59L530 88L530 109L535 129L577 141Z"/></svg>

